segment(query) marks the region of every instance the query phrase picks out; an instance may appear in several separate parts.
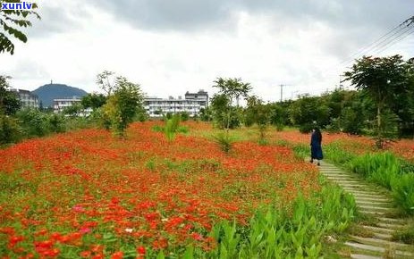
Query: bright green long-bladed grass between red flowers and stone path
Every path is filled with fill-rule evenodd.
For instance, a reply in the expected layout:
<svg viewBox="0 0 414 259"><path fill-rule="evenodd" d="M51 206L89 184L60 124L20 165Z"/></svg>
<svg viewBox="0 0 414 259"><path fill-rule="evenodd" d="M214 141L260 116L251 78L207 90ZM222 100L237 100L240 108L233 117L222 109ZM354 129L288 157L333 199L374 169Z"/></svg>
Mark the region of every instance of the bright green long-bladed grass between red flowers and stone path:
<svg viewBox="0 0 414 259"><path fill-rule="evenodd" d="M291 207L258 211L248 226L234 221L215 224L207 236L218 246L207 252L207 258L320 258L324 237L346 230L355 209L351 195L325 186L311 198L298 196ZM206 257L203 254L189 247L185 258Z"/></svg>

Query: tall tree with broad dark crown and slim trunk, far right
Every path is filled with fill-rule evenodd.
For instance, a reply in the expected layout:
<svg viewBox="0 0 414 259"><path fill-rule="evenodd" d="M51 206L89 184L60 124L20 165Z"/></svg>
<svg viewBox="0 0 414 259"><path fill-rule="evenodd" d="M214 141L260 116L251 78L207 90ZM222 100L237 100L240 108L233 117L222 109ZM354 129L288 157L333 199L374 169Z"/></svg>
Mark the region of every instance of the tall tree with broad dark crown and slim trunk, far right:
<svg viewBox="0 0 414 259"><path fill-rule="evenodd" d="M376 103L377 146L384 142L382 115L385 107L391 105L395 95L407 93L410 85L410 63L404 62L401 55L389 57L364 56L345 72L345 80L350 80L355 88L365 91Z"/></svg>

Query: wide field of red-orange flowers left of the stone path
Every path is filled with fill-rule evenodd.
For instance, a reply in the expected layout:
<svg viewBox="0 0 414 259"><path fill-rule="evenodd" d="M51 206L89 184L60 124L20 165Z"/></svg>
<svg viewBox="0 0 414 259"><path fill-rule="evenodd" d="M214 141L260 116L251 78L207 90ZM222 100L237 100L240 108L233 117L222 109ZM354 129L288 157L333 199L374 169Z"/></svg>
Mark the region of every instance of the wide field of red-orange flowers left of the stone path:
<svg viewBox="0 0 414 259"><path fill-rule="evenodd" d="M207 138L168 142L155 123L132 124L126 139L82 129L0 150L0 258L208 250L215 222L245 224L261 205L320 188L317 170L287 147L243 141L225 155Z"/></svg>

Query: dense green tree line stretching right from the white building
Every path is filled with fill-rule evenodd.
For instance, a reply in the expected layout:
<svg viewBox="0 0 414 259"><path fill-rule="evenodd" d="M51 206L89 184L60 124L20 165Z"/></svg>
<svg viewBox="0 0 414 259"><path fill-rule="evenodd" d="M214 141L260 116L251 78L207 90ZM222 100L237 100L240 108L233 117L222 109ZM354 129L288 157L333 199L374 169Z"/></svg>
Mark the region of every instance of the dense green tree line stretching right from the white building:
<svg viewBox="0 0 414 259"><path fill-rule="evenodd" d="M307 94L294 101L267 104L249 95L249 83L217 79L214 87L219 92L200 118L226 130L256 123L261 136L270 124L277 129L298 127L301 132L318 126L372 135L378 147L387 139L414 137L414 58L404 61L401 55L364 56L344 76L355 90L336 88L321 96ZM234 104L241 96L247 101L246 107Z"/></svg>

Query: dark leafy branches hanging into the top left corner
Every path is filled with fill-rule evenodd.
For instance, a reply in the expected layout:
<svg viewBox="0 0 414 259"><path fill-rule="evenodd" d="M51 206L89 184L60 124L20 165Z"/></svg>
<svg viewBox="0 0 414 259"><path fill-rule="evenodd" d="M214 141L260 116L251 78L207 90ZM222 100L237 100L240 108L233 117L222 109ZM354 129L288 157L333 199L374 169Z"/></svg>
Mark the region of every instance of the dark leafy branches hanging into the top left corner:
<svg viewBox="0 0 414 259"><path fill-rule="evenodd" d="M20 0L3 0L1 3L7 4L19 4ZM35 3L31 4L31 10L1 10L0 12L0 27L3 28L3 32L0 31L0 53L9 52L10 54L14 53L14 44L9 36L13 36L21 40L22 42L27 42L28 38L26 35L18 28L23 27L27 28L31 26L31 21L29 18L34 16L40 19L38 13L35 9L38 8L38 5Z"/></svg>

